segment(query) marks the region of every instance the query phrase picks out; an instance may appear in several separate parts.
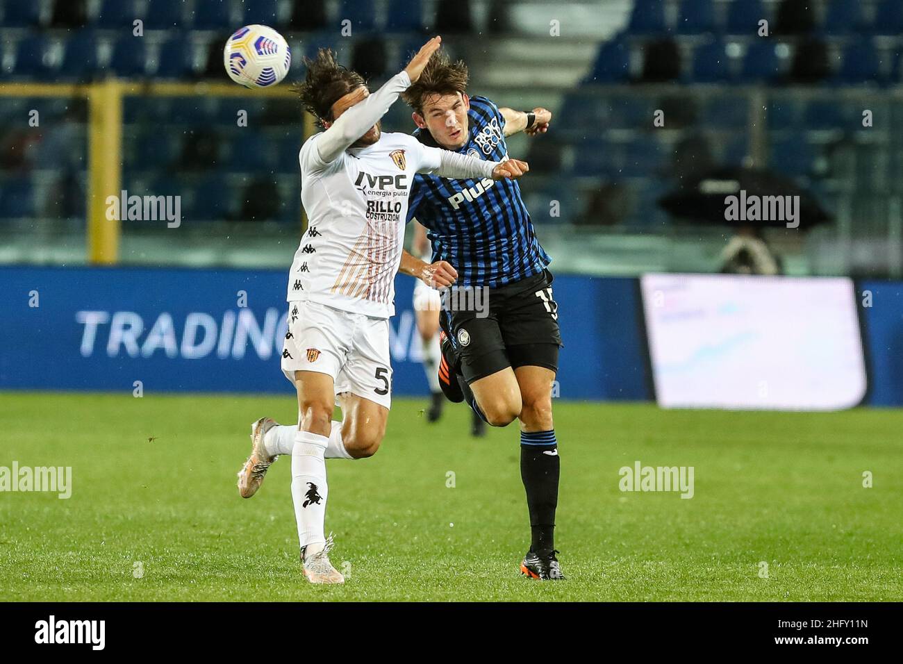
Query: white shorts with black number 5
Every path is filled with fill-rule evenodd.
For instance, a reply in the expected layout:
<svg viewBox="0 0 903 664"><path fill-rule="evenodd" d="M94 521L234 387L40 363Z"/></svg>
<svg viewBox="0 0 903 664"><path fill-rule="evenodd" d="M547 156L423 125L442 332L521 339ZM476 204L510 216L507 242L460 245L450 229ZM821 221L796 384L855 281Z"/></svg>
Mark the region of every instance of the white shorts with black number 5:
<svg viewBox="0 0 903 664"><path fill-rule="evenodd" d="M316 302L290 302L282 369L293 385L295 371L325 373L337 395L350 392L388 408L389 322Z"/></svg>

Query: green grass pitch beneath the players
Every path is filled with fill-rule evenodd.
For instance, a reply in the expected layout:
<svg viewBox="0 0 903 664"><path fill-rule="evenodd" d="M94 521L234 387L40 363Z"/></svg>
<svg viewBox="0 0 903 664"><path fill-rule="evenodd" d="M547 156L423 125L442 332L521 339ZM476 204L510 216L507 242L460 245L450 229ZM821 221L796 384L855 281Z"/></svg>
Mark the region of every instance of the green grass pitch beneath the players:
<svg viewBox="0 0 903 664"><path fill-rule="evenodd" d="M248 424L292 421L291 396L0 394L0 465L73 473L70 500L0 493L0 600L903 600L901 411L556 403L568 580L540 584L517 574L517 429L474 440L464 407L436 425L422 407L396 399L375 457L329 462L350 575L313 587L288 460L253 499L235 488ZM636 460L694 466L694 498L619 491Z"/></svg>

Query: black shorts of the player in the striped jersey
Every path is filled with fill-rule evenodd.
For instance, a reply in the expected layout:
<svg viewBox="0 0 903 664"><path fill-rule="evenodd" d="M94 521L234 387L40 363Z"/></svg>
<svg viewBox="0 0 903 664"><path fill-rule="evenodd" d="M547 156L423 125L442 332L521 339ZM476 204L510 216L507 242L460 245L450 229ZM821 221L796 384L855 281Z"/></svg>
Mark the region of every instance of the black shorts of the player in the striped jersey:
<svg viewBox="0 0 903 664"><path fill-rule="evenodd" d="M553 278L544 270L511 284L486 288L482 291L486 306L477 307L481 311L461 307L461 297L451 298L440 323L452 340L458 370L468 384L506 367L545 367L557 372L558 349L563 344L558 304L552 295ZM480 304L479 297L471 300Z"/></svg>

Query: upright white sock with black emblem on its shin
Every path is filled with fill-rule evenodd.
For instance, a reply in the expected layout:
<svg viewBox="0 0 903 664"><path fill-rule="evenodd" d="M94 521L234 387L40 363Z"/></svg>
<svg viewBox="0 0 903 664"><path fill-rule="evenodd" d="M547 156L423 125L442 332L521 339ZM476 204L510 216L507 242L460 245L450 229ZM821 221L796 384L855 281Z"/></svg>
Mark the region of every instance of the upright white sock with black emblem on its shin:
<svg viewBox="0 0 903 664"><path fill-rule="evenodd" d="M321 551L326 544L326 462L323 453L329 439L325 435L299 431L292 450L292 500L298 524L298 541L307 547L305 557Z"/></svg>

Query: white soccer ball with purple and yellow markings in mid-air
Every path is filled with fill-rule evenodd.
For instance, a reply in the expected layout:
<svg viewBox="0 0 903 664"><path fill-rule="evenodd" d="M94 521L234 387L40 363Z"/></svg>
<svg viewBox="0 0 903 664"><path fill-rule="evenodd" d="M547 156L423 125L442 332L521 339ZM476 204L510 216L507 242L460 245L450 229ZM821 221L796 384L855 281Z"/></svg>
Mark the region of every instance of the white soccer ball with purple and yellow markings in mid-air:
<svg viewBox="0 0 903 664"><path fill-rule="evenodd" d="M223 64L229 78L246 88L269 88L285 78L292 51L284 37L265 25L246 25L226 42Z"/></svg>

